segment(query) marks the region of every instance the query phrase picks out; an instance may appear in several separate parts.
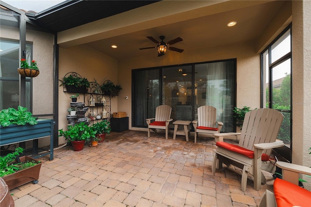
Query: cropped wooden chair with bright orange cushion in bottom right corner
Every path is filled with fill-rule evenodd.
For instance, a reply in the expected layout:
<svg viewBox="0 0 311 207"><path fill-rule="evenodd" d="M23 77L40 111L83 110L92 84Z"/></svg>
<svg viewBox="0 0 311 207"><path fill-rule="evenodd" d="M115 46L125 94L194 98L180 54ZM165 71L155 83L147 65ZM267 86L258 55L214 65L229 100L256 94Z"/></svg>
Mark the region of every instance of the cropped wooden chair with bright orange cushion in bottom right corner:
<svg viewBox="0 0 311 207"><path fill-rule="evenodd" d="M276 162L282 169L283 179L276 178L274 192L266 190L259 207L308 207L311 205L311 192L298 186L299 173L311 175L311 168L287 162Z"/></svg>

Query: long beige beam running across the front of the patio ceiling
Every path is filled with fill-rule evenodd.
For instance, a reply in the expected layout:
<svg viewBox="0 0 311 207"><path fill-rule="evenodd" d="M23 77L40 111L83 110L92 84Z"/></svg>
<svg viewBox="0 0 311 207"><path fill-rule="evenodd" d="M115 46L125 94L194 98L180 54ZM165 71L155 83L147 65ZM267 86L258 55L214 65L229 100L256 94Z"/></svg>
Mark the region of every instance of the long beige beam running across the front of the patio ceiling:
<svg viewBox="0 0 311 207"><path fill-rule="evenodd" d="M209 16L238 8L270 2L259 1L159 1L112 17L90 22L58 33L57 43L64 48L147 30L163 25ZM168 9L173 8L173 9ZM160 12L159 12L160 11Z"/></svg>

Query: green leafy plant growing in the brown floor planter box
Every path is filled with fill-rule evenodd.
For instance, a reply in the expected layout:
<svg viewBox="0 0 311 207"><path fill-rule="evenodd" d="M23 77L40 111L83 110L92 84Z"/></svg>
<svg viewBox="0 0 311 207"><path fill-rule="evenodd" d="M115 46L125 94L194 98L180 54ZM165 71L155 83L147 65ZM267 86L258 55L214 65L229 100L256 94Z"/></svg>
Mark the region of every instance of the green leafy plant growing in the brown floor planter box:
<svg viewBox="0 0 311 207"><path fill-rule="evenodd" d="M38 164L34 161L16 163L15 160L17 156L21 154L23 150L23 148L17 147L15 152L9 153L5 156L0 156L0 177L24 170Z"/></svg>

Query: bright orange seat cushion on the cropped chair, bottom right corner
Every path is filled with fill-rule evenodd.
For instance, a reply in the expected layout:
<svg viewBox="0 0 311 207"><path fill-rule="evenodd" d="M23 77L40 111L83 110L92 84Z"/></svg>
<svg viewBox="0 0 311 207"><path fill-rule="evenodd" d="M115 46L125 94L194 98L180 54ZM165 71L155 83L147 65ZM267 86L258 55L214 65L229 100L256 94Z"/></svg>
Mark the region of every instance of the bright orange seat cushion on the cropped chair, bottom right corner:
<svg viewBox="0 0 311 207"><path fill-rule="evenodd" d="M291 182L276 178L273 190L278 207L310 207L311 192Z"/></svg>

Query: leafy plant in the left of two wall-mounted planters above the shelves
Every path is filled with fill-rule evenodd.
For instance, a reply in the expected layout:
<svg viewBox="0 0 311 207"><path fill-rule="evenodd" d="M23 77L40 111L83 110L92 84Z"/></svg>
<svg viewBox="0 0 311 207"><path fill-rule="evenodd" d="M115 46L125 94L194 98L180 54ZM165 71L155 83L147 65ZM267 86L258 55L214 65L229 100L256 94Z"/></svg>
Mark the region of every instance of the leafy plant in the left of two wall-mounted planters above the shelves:
<svg viewBox="0 0 311 207"><path fill-rule="evenodd" d="M67 75L67 74L66 74ZM86 78L82 78L79 74L71 72L70 75L63 77L60 80L62 83L59 86L65 86L67 92L81 92L86 93L90 83Z"/></svg>

